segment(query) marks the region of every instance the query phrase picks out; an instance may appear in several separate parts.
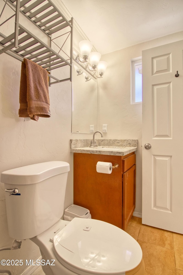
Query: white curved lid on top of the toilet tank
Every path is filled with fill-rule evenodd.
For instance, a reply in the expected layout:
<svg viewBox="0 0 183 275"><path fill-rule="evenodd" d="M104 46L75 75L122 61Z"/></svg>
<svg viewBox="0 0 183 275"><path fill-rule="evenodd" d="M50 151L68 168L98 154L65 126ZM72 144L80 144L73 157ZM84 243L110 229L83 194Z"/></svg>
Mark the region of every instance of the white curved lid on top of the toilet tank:
<svg viewBox="0 0 183 275"><path fill-rule="evenodd" d="M69 170L69 163L64 161L42 162L4 171L0 181L7 184L34 184Z"/></svg>

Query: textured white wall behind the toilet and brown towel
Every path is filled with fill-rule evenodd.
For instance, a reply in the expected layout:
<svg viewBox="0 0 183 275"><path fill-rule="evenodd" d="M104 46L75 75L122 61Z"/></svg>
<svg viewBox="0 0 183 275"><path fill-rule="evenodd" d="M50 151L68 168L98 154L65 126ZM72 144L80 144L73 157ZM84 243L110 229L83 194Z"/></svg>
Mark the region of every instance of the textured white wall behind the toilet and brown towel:
<svg viewBox="0 0 183 275"><path fill-rule="evenodd" d="M49 88L51 118L24 121L18 117L21 62L2 54L0 56L0 172L19 166L51 160L72 162L69 153L71 137L71 83ZM72 171L72 165L71 165ZM72 203L72 172L67 183L66 206ZM11 245L8 236L4 186L0 189L0 247ZM26 211L26 209L25 209ZM1 251L0 258L36 259L40 252L31 241L23 241L14 251ZM7 268L20 274L25 266ZM1 269L1 267L0 267Z"/></svg>

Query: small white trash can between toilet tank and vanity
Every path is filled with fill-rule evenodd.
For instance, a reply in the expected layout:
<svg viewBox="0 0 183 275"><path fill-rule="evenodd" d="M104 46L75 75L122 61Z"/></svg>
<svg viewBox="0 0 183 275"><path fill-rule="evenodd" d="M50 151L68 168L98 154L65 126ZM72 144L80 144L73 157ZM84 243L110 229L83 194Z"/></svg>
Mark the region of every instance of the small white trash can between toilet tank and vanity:
<svg viewBox="0 0 183 275"><path fill-rule="evenodd" d="M65 221L71 221L75 217L83 219L92 218L88 209L75 204L72 204L65 209L63 217Z"/></svg>

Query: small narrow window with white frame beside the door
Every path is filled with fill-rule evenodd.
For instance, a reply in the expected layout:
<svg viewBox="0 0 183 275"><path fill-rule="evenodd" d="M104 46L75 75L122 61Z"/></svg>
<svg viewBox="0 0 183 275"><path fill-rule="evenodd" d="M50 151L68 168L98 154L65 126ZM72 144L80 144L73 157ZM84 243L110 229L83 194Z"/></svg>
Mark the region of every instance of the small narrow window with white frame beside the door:
<svg viewBox="0 0 183 275"><path fill-rule="evenodd" d="M142 58L131 60L131 104L142 102Z"/></svg>

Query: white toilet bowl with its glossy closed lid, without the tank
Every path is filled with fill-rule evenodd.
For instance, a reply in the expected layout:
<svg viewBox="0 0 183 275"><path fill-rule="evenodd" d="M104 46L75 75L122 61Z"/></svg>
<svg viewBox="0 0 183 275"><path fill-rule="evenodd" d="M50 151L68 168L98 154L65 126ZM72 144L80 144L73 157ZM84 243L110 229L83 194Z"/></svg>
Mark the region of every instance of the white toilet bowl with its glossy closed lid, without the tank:
<svg viewBox="0 0 183 275"><path fill-rule="evenodd" d="M31 238L42 258L55 260L42 266L47 275L144 275L142 250L138 242L109 223L74 218L58 221Z"/></svg>

